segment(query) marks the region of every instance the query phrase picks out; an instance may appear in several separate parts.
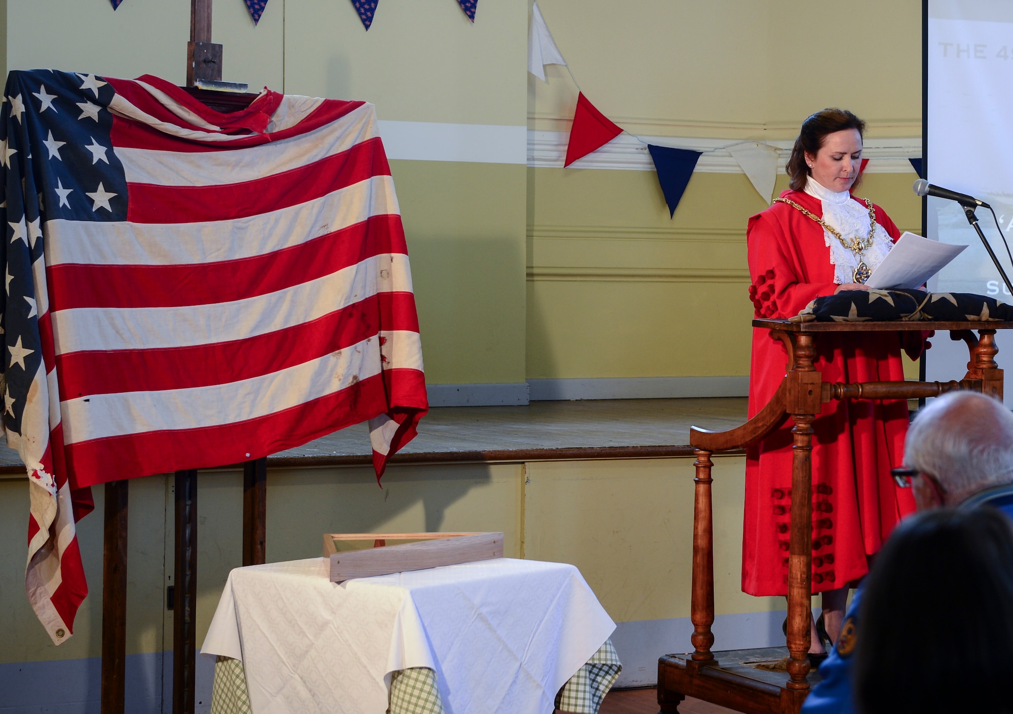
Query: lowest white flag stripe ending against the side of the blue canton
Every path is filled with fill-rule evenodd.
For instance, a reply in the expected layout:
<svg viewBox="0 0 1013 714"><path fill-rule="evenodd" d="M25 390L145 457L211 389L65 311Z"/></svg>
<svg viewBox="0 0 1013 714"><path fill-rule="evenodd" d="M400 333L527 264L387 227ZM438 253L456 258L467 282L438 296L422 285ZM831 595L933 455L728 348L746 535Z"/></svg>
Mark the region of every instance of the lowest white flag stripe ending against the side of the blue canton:
<svg viewBox="0 0 1013 714"><path fill-rule="evenodd" d="M184 152L113 147L131 184L220 186L264 178L347 151L376 136L365 104L319 129L290 139L226 151Z"/></svg>

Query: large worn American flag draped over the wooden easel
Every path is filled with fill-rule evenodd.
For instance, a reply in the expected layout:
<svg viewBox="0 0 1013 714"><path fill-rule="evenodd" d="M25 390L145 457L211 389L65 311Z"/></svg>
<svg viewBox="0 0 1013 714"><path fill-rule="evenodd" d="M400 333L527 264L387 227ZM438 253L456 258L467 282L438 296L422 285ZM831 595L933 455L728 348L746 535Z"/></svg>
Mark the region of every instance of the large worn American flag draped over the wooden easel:
<svg viewBox="0 0 1013 714"><path fill-rule="evenodd" d="M366 421L379 478L427 409L421 347L372 104L265 89L220 114L157 77L16 71L0 132L4 427L61 644L90 486Z"/></svg>

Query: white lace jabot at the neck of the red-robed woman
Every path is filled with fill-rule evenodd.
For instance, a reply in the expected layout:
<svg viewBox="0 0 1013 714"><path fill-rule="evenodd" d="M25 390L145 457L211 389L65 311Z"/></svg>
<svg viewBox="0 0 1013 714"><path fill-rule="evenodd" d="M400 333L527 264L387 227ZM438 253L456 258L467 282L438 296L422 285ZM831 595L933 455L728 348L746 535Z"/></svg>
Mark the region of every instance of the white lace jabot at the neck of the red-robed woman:
<svg viewBox="0 0 1013 714"><path fill-rule="evenodd" d="M820 199L823 204L823 219L834 226L845 240L858 236L866 238L869 234L869 211L863 203L854 201L847 191L840 193L831 191L816 182L812 176L805 182L805 193ZM875 224L872 245L865 251L865 265L869 270L875 270L893 247L889 234ZM824 240L830 247L830 262L834 266L834 282L840 285L855 282L852 274L858 267L858 257L841 244L834 235L824 230Z"/></svg>

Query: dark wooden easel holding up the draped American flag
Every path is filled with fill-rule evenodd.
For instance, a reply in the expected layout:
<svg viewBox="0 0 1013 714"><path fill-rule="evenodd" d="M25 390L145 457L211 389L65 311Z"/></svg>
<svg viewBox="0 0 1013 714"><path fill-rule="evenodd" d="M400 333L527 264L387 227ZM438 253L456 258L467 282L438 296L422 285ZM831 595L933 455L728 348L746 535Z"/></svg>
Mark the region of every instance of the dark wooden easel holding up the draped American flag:
<svg viewBox="0 0 1013 714"><path fill-rule="evenodd" d="M186 87L219 112L249 105L256 94L201 89L197 80L221 81L222 46L211 42L212 0L190 0ZM243 465L243 565L265 562L267 459ZM101 714L124 714L127 663L128 481L105 484L102 552ZM175 572L172 578L172 712L192 714L197 657L197 470L175 474Z"/></svg>

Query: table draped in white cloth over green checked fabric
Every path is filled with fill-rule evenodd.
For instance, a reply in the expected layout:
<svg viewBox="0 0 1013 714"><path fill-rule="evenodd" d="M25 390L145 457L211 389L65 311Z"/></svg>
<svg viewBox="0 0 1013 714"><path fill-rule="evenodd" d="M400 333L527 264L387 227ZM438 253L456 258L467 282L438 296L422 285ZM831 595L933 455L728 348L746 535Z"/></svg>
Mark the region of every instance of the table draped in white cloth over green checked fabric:
<svg viewBox="0 0 1013 714"><path fill-rule="evenodd" d="M619 673L615 623L572 565L328 572L315 558L230 573L202 647L218 656L213 711L595 712Z"/></svg>

